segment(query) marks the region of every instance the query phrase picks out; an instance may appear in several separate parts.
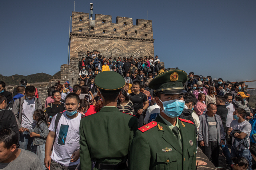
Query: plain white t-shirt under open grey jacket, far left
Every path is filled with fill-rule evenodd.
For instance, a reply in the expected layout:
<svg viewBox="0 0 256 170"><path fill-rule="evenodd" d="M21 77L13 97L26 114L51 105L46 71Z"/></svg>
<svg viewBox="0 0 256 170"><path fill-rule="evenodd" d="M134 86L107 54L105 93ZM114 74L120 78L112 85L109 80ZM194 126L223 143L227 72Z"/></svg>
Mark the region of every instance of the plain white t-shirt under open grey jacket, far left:
<svg viewBox="0 0 256 170"><path fill-rule="evenodd" d="M24 98L23 98L24 99ZM22 119L21 119L21 126L26 127L28 129L32 129L36 126L36 121L33 119L34 111L36 109L36 102L33 98L32 100L25 100L22 104L23 107L23 113L22 113Z"/></svg>

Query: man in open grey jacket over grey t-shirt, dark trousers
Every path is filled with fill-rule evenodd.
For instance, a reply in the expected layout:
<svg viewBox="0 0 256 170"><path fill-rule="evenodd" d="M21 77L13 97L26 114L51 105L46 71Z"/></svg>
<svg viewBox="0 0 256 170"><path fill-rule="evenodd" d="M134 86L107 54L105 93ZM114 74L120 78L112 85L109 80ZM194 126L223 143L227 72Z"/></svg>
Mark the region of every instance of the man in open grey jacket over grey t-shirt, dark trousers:
<svg viewBox="0 0 256 170"><path fill-rule="evenodd" d="M225 145L225 131L221 118L216 115L216 111L216 105L209 103L206 113L199 116L198 142L203 153L215 167L218 167L220 145Z"/></svg>

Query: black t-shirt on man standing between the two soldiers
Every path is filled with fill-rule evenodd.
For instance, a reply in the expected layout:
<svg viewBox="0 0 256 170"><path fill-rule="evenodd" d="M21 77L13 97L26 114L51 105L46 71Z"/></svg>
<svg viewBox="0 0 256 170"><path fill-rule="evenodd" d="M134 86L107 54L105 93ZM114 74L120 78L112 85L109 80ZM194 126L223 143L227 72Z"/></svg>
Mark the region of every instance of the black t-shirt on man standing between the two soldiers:
<svg viewBox="0 0 256 170"><path fill-rule="evenodd" d="M129 98L132 101L135 113L137 113L139 109L142 109L143 103L148 100L146 94L142 92L140 92L139 94L131 93L129 94Z"/></svg>

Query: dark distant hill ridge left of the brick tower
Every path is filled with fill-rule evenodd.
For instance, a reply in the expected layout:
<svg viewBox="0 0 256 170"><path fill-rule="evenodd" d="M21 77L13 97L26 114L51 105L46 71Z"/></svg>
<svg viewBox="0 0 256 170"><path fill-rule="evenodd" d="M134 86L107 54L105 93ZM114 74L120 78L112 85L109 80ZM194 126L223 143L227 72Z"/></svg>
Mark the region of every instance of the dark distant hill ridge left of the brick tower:
<svg viewBox="0 0 256 170"><path fill-rule="evenodd" d="M28 80L28 83L36 83L36 82L48 82L51 79L60 79L60 71L51 76L50 74L46 73L36 73L36 74L31 74L28 76L22 76L22 75L12 75L12 76L3 76L0 74L0 80L6 82L6 84L14 84L14 85L19 85L21 79L26 79Z"/></svg>

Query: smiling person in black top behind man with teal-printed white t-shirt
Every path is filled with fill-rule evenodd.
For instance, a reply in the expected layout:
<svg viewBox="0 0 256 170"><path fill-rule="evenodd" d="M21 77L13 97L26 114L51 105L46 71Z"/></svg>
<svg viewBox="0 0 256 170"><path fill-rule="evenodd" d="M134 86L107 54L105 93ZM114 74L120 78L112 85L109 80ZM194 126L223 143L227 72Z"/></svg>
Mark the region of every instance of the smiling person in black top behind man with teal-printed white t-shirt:
<svg viewBox="0 0 256 170"><path fill-rule="evenodd" d="M45 109L45 112L48 114L50 121L56 114L62 113L65 109L65 104L60 102L61 93L58 90L53 91L51 96L54 102L48 103Z"/></svg>

